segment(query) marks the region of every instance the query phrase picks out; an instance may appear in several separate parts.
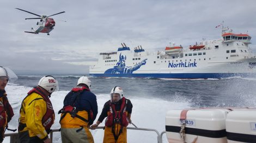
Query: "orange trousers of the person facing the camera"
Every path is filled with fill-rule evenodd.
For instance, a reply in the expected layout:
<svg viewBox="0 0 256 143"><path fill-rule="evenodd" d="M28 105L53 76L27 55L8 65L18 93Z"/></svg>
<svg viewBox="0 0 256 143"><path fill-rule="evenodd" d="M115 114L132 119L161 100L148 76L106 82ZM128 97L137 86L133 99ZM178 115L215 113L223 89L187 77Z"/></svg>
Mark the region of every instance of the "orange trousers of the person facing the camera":
<svg viewBox="0 0 256 143"><path fill-rule="evenodd" d="M118 134L121 126L115 125L115 134ZM126 127L123 127L123 131L119 135L117 141L115 141L114 134L112 133L112 127L106 127L104 131L103 143L127 143L127 131Z"/></svg>

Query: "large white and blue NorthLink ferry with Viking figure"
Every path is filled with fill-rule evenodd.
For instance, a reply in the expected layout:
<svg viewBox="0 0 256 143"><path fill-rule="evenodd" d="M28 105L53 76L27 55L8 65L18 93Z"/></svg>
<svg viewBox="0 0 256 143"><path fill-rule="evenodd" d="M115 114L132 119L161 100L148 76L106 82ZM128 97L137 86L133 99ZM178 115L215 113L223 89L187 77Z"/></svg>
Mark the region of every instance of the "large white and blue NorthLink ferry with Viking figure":
<svg viewBox="0 0 256 143"><path fill-rule="evenodd" d="M222 27L222 38L203 40L187 48L166 47L148 52L141 46L131 50L125 43L112 53L100 53L89 67L95 77L152 77L170 79L221 79L256 77L256 57L249 48L251 36L234 34Z"/></svg>

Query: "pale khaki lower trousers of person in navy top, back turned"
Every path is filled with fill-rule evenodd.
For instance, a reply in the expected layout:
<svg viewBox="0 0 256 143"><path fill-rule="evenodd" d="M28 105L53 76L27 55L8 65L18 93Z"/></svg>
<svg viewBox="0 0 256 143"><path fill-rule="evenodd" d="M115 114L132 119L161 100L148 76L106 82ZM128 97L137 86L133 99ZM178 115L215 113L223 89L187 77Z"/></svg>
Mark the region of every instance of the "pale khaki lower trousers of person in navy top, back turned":
<svg viewBox="0 0 256 143"><path fill-rule="evenodd" d="M81 128L61 128L63 143L94 143L93 135L90 133L88 127Z"/></svg>

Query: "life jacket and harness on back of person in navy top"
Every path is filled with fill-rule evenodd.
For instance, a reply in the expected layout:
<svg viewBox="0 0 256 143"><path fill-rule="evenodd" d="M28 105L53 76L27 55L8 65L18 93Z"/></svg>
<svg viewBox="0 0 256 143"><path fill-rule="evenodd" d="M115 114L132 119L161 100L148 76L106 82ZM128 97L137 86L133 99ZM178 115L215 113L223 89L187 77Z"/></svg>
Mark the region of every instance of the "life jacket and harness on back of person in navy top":
<svg viewBox="0 0 256 143"><path fill-rule="evenodd" d="M72 101L64 100L64 107L62 109L60 109L58 112L58 114L60 114L60 113L63 114L60 117L59 122L62 121L62 119L64 119L64 117L66 116L67 113L69 113L72 118L78 118L84 122L89 122L90 119L93 119L93 111L92 110L87 111L88 112L88 120L83 118L80 115L77 115L78 109L76 107L76 103L77 103L77 101L80 101L80 95L84 90L90 91L90 89L87 87L76 86L76 87L72 88L71 92L68 95L66 95L66 96L71 96Z"/></svg>

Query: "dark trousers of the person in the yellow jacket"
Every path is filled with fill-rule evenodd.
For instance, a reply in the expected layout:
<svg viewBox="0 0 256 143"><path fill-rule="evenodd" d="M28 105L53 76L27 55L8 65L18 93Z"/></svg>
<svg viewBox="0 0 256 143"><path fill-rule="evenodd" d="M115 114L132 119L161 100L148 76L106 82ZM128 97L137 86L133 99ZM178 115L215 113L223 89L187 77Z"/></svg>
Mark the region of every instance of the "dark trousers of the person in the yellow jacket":
<svg viewBox="0 0 256 143"><path fill-rule="evenodd" d="M20 132L19 133L19 143L44 143L43 140L38 138L37 136L29 137L28 131Z"/></svg>

